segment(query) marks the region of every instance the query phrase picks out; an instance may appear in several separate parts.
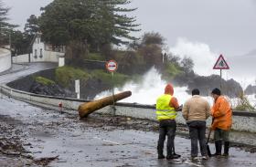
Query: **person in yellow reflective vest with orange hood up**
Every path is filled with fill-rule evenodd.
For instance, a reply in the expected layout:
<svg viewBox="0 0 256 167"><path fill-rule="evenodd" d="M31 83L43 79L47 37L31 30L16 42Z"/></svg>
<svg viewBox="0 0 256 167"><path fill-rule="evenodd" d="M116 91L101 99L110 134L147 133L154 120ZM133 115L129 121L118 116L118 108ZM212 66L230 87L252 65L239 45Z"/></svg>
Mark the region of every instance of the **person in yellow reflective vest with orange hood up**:
<svg viewBox="0 0 256 167"><path fill-rule="evenodd" d="M157 144L158 159L164 159L165 136L167 135L166 159L176 159L175 153L176 110L179 108L177 99L173 97L174 88L171 84L165 87L165 94L156 99L156 119L159 121L159 140Z"/></svg>

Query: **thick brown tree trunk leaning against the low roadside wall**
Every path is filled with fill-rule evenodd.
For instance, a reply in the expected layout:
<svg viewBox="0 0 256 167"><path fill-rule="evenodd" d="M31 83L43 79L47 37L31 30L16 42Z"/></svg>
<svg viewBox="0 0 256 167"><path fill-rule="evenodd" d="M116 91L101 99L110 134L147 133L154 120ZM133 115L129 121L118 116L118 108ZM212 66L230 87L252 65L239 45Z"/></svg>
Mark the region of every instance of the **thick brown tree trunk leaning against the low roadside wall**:
<svg viewBox="0 0 256 167"><path fill-rule="evenodd" d="M103 107L112 105L113 99L114 99L114 102L116 102L118 100L128 98L131 95L132 95L131 91L123 91L121 93L115 94L114 96L109 96L103 99L97 99L95 101L80 104L80 107L79 107L80 118L87 117L89 114L91 114L95 110L100 110Z"/></svg>

